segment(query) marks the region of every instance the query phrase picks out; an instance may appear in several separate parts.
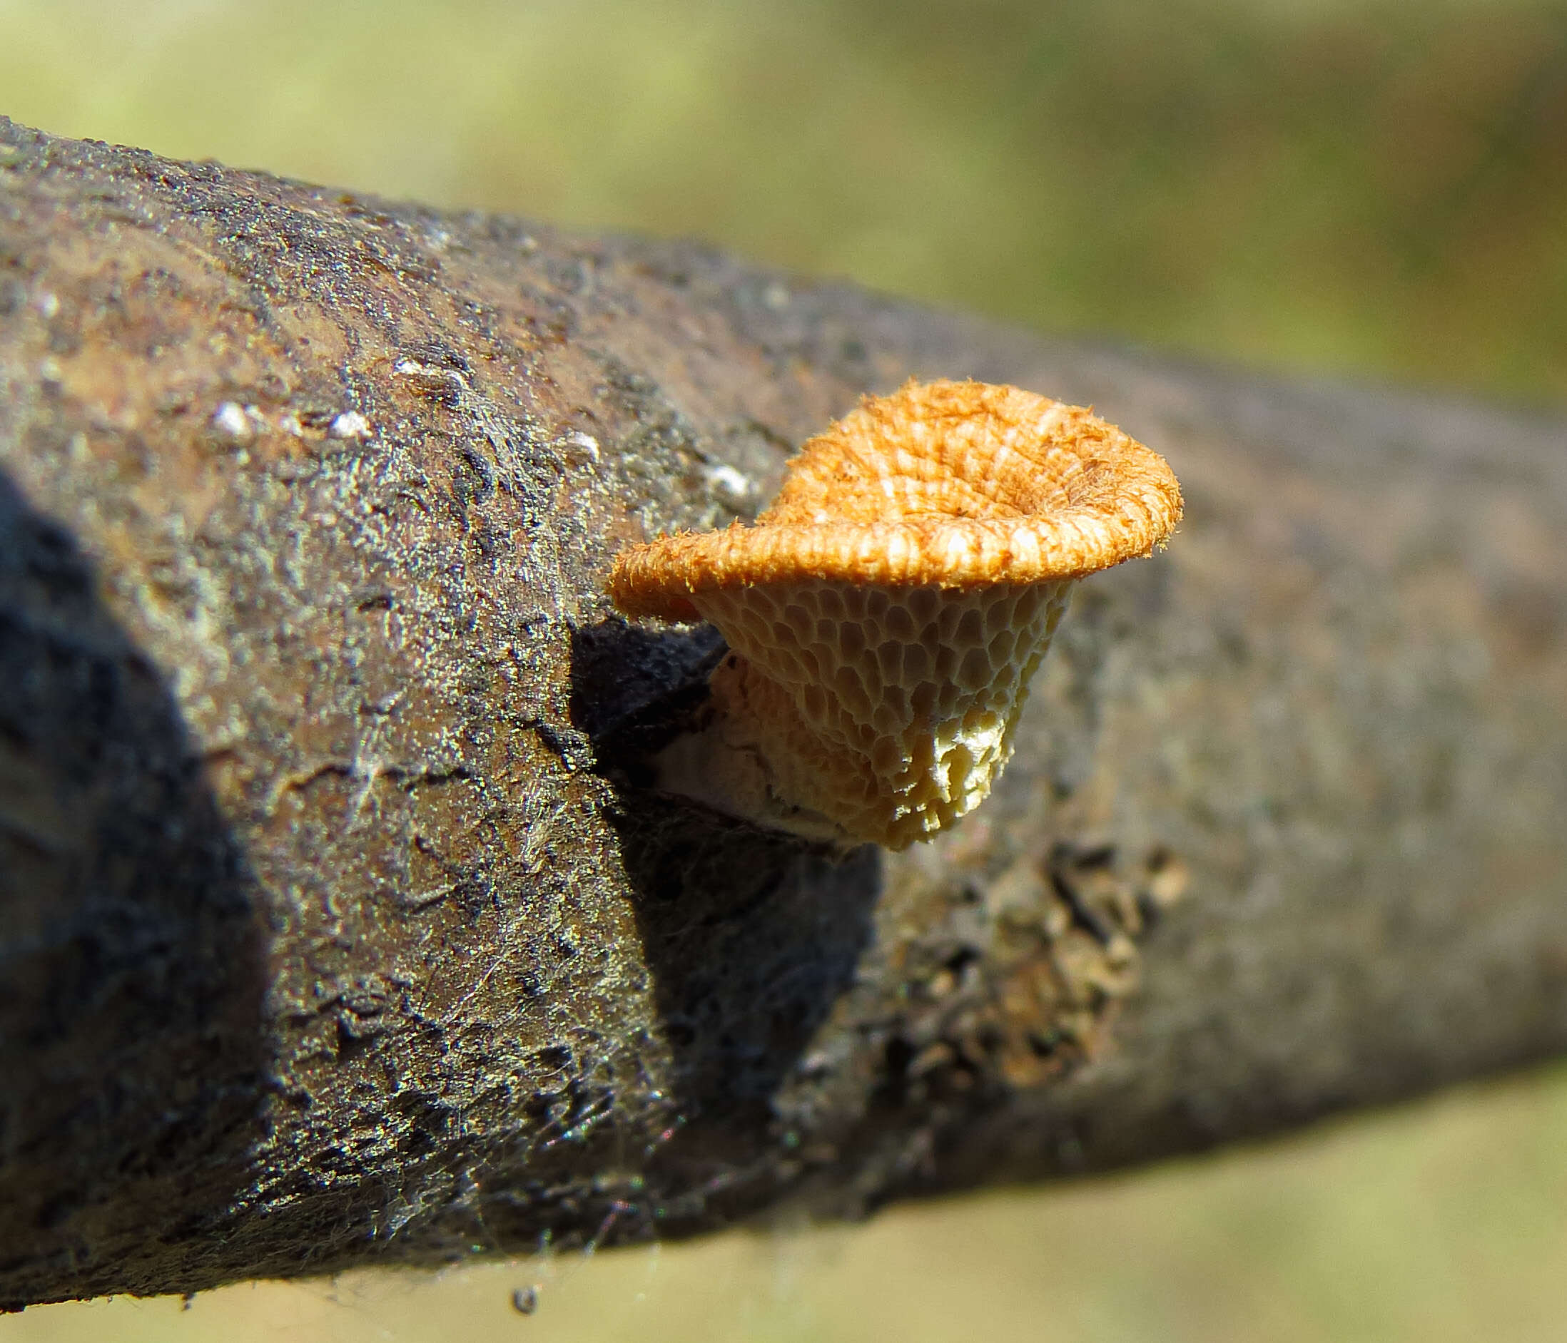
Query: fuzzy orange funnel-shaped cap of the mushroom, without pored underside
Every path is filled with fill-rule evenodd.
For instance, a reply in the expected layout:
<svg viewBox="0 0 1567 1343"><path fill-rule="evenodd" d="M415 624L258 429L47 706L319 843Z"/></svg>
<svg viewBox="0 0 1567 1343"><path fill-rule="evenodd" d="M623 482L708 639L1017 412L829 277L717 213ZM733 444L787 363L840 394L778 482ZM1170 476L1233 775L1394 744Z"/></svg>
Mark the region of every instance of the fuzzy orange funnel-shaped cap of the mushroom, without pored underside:
<svg viewBox="0 0 1567 1343"><path fill-rule="evenodd" d="M810 439L755 525L635 545L610 594L627 614L694 621L693 594L801 578L1080 578L1149 555L1180 516L1164 459L1089 411L1019 387L907 382Z"/></svg>

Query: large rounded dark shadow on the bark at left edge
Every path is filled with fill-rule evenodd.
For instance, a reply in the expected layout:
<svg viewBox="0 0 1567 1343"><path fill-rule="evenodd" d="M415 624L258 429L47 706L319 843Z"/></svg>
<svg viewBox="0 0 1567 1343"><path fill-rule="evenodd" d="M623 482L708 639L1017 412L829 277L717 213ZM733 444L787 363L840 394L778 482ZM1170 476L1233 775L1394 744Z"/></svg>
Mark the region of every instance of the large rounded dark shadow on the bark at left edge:
<svg viewBox="0 0 1567 1343"><path fill-rule="evenodd" d="M78 1265L113 1274L81 1296L197 1269L212 1238L180 1219L235 1202L266 1075L244 860L97 591L0 476L0 1207L31 1227L0 1309Z"/></svg>

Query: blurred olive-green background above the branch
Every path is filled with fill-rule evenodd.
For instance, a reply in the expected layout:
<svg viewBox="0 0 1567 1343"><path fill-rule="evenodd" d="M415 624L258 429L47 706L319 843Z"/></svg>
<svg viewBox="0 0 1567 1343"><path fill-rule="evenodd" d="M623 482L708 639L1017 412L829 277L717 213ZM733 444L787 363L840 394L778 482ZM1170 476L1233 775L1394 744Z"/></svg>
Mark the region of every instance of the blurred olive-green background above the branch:
<svg viewBox="0 0 1567 1343"><path fill-rule="evenodd" d="M0 0L20 121L1567 396L1567 5Z"/></svg>

